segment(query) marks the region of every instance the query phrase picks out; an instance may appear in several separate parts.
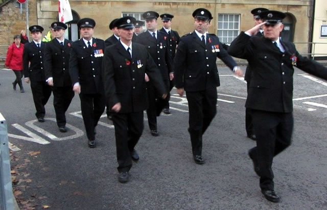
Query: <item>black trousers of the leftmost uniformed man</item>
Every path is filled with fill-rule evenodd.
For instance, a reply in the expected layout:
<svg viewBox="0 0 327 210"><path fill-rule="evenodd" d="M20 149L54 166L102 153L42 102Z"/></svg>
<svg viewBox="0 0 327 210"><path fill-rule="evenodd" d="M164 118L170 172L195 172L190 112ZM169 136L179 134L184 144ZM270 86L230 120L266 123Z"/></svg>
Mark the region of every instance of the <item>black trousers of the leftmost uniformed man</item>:
<svg viewBox="0 0 327 210"><path fill-rule="evenodd" d="M44 117L44 106L51 96L51 87L45 82L31 81L31 90L36 109L35 116L37 118Z"/></svg>

